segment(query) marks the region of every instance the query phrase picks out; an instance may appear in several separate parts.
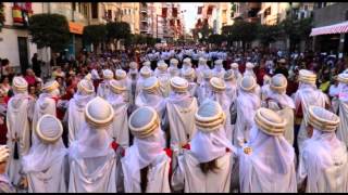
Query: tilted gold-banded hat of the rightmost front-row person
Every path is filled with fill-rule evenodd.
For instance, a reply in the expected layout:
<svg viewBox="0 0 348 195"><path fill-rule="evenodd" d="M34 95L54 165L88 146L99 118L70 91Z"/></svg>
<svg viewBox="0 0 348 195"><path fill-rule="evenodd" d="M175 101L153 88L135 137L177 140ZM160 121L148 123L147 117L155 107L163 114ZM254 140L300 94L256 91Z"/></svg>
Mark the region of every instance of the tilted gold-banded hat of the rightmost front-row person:
<svg viewBox="0 0 348 195"><path fill-rule="evenodd" d="M308 123L324 132L335 132L339 125L339 117L323 107L310 106L307 114Z"/></svg>

